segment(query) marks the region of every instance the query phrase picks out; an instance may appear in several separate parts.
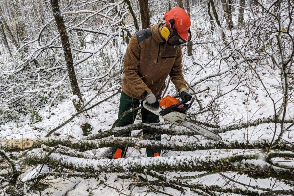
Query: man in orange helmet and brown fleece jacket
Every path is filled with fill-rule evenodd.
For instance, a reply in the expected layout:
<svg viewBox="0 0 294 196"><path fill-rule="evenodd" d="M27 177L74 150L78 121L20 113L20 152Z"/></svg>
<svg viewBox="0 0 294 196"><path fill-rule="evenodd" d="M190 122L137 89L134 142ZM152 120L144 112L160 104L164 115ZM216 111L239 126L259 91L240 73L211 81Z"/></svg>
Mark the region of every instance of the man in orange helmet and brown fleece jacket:
<svg viewBox="0 0 294 196"><path fill-rule="evenodd" d="M189 101L182 74L181 44L191 39L190 18L182 8L176 7L164 15L166 23L143 29L132 36L125 56L122 94L119 116L123 112L139 107L140 101L147 100L153 107L159 107L158 98L165 88L165 80L170 75L182 99ZM124 116L116 126L134 123L137 110ZM142 123L159 123L159 117L146 109L141 110ZM152 133L143 129L143 134ZM115 135L130 136L131 131ZM161 140L161 136L153 138ZM148 157L160 156L160 149L146 149ZM114 158L124 157L126 147L112 147Z"/></svg>

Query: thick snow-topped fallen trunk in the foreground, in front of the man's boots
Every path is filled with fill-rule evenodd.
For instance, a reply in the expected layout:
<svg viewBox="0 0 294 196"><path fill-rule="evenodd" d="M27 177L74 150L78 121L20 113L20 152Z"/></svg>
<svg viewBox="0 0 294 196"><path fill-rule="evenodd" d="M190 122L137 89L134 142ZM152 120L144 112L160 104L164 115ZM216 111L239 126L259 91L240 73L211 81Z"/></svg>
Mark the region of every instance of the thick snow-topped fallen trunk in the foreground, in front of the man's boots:
<svg viewBox="0 0 294 196"><path fill-rule="evenodd" d="M47 153L42 150L31 151L24 158L25 164L48 164L51 167L61 167L77 172L139 172L170 171L170 172L236 172L252 178L273 177L278 180L294 181L294 170L278 168L266 161L265 154L238 156L189 156L189 157L146 157L122 159L84 159Z"/></svg>

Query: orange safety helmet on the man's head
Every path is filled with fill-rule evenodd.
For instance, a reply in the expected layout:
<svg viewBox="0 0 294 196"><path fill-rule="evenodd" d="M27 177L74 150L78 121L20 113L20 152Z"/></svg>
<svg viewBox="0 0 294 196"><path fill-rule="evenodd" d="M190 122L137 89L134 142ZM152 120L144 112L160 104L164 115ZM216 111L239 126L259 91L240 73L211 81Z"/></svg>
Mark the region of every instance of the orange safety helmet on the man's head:
<svg viewBox="0 0 294 196"><path fill-rule="evenodd" d="M187 40L191 38L191 21L189 15L184 9L180 7L172 8L164 14L164 19L166 23L170 23L170 20L172 19L174 20L173 28L175 28L182 39Z"/></svg>

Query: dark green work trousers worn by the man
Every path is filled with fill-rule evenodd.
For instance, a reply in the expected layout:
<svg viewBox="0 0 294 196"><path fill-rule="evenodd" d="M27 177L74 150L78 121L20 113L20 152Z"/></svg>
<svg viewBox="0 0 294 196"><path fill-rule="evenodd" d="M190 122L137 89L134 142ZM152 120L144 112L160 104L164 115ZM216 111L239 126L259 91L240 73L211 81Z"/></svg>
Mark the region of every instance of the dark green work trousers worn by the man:
<svg viewBox="0 0 294 196"><path fill-rule="evenodd" d="M142 104L142 103L141 103ZM130 96L126 95L123 91L121 93L121 98L120 98L120 107L119 107L119 115L123 114L123 112L133 109L133 108L137 108L140 105L140 100L136 99L136 98L131 98ZM156 101L156 103L154 103L154 105L152 105L153 107L159 107L159 103L158 101ZM128 113L126 114L122 119L120 119L118 121L118 123L116 124L117 127L120 126L126 126L129 124L133 124L136 116L137 116L138 110ZM159 117L155 114L153 114L152 112L146 110L146 109L141 109L141 116L142 116L142 123L159 123ZM145 134L150 134L152 133L152 129L148 128L148 129L143 129L143 135ZM114 137L130 137L131 136L131 131L127 131L125 133L122 134L115 134ZM157 136L156 138L152 138L151 140L161 140L161 136ZM116 152L117 149L121 149L122 150L122 157L125 157L126 154L126 147L122 147L122 146L114 146L112 147L112 155L114 155L114 153ZM154 153L158 153L160 155L160 149L146 149L146 154L147 157L154 157Z"/></svg>

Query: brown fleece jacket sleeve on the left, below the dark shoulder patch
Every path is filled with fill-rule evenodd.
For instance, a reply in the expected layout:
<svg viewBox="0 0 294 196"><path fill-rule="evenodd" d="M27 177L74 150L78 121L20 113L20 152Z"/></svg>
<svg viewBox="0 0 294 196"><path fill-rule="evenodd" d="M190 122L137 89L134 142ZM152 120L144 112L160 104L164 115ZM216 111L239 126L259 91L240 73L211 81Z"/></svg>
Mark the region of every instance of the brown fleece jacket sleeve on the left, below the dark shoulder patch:
<svg viewBox="0 0 294 196"><path fill-rule="evenodd" d="M151 89L147 87L138 74L140 51L137 37L133 35L126 49L123 68L127 88L131 89L137 95L137 98L145 98L151 92Z"/></svg>

